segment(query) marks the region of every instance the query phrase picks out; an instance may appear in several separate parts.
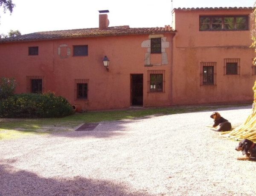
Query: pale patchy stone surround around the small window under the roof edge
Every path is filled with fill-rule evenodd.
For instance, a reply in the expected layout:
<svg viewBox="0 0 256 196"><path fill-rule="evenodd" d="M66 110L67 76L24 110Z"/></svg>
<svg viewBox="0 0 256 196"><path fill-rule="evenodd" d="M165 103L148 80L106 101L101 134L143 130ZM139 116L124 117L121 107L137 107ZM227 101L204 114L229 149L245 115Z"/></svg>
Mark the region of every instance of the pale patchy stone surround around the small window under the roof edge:
<svg viewBox="0 0 256 196"><path fill-rule="evenodd" d="M161 38L161 48L162 52L160 54L151 54L151 38ZM144 65L145 66L154 66L154 65L167 65L168 64L168 56L166 52L166 48L169 48L170 43L166 41L167 37L163 35L149 35L148 40L144 40L141 43L142 48L147 48L147 52L144 57Z"/></svg>

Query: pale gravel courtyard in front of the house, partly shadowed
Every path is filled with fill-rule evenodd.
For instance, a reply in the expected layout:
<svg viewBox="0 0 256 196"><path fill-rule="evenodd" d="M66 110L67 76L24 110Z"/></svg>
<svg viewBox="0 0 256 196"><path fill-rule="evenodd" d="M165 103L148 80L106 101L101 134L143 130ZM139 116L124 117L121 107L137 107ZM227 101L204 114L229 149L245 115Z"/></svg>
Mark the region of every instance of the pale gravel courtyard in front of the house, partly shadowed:
<svg viewBox="0 0 256 196"><path fill-rule="evenodd" d="M215 111L236 127L251 107ZM0 196L256 195L256 162L206 127L212 112L0 141Z"/></svg>

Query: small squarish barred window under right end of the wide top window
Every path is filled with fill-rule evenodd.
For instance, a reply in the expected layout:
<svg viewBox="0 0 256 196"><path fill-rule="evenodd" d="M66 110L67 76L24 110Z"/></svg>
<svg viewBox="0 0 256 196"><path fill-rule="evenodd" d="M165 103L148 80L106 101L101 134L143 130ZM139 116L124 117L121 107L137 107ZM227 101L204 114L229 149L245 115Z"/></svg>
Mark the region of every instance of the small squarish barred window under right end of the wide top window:
<svg viewBox="0 0 256 196"><path fill-rule="evenodd" d="M240 75L240 58L224 58L224 75Z"/></svg>

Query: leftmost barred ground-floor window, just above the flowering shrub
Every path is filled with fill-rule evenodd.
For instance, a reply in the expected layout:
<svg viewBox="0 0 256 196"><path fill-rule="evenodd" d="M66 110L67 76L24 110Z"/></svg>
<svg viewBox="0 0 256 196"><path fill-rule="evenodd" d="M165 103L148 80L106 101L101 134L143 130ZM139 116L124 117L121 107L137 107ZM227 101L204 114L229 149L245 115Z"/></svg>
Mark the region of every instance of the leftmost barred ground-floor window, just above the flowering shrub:
<svg viewBox="0 0 256 196"><path fill-rule="evenodd" d="M43 93L44 92L44 76L27 76L27 92Z"/></svg>

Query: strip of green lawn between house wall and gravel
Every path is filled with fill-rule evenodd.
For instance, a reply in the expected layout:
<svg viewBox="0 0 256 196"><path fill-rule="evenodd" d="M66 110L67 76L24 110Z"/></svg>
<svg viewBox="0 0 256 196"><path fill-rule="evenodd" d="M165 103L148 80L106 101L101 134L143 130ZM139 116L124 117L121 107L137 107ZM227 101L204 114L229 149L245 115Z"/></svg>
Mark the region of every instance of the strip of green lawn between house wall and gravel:
<svg viewBox="0 0 256 196"><path fill-rule="evenodd" d="M138 110L112 110L74 114L64 118L9 119L0 118L0 140L27 137L30 135L50 134L73 131L80 124L87 122L116 121L140 118L148 115L169 115L186 112L214 110L243 105L195 106L195 107L160 107L141 108Z"/></svg>

